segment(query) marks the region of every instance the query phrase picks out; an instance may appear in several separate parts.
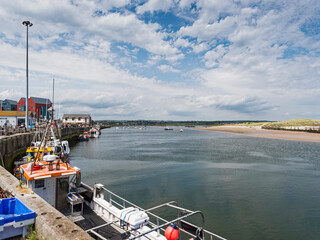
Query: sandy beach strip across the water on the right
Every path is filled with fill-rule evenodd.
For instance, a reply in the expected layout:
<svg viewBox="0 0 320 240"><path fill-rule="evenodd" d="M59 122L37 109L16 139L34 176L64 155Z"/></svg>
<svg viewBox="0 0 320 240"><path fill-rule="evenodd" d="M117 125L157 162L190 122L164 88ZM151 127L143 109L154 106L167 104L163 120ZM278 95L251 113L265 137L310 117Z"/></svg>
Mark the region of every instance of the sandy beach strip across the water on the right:
<svg viewBox="0 0 320 240"><path fill-rule="evenodd" d="M261 138L320 142L320 134L318 133L268 130L268 129L262 129L261 127L223 125L223 126L201 128L199 130L230 132L230 133L245 134L247 136L261 137Z"/></svg>

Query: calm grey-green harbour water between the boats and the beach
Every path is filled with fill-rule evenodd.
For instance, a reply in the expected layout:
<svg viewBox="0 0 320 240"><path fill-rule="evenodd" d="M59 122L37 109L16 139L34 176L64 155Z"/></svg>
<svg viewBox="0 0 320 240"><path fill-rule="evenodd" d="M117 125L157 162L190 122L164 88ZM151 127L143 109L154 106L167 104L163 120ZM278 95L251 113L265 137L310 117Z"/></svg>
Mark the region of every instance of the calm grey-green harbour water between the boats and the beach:
<svg viewBox="0 0 320 240"><path fill-rule="evenodd" d="M160 127L72 148L83 181L141 207L176 200L228 239L320 239L320 144Z"/></svg>

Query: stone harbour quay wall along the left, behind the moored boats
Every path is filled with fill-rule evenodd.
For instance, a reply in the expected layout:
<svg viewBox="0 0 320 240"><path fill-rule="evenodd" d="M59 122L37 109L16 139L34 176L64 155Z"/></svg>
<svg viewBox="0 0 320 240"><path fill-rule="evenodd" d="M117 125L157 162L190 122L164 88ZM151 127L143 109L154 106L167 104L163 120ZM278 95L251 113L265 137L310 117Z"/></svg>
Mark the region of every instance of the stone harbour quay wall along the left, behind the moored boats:
<svg viewBox="0 0 320 240"><path fill-rule="evenodd" d="M59 129L63 139L76 140L89 127L70 126ZM11 174L13 162L25 155L35 131L0 136L0 189L17 198L36 213L35 229L40 239L92 239L57 209L36 193L21 187L19 180Z"/></svg>

